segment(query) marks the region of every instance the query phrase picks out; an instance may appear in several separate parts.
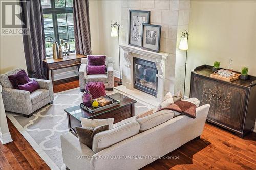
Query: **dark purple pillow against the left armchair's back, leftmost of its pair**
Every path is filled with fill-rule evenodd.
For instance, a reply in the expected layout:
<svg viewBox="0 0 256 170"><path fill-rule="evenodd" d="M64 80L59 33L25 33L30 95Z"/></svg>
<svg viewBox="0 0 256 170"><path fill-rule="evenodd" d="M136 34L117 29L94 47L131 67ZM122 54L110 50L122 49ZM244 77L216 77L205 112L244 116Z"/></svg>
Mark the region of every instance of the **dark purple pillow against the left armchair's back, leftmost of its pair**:
<svg viewBox="0 0 256 170"><path fill-rule="evenodd" d="M24 69L21 71L18 71L14 75L8 76L8 79L10 80L13 88L15 89L18 89L18 85L24 85L30 81Z"/></svg>

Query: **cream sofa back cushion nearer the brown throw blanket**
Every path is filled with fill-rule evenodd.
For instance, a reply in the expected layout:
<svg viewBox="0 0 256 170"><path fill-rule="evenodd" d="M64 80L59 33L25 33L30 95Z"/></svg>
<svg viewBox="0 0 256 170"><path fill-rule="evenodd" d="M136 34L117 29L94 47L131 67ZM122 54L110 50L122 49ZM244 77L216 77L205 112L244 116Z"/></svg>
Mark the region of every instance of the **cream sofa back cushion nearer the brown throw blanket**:
<svg viewBox="0 0 256 170"><path fill-rule="evenodd" d="M148 129L151 129L157 125L160 125L169 119L174 117L174 112L172 110L161 110L157 111L146 117L138 118L136 121L140 124L140 131L143 132Z"/></svg>

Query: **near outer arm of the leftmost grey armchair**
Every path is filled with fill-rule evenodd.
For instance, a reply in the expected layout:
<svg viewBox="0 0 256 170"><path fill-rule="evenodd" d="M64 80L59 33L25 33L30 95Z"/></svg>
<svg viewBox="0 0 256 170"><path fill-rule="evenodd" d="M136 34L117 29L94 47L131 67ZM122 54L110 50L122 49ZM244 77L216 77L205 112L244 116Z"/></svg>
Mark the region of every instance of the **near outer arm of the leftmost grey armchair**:
<svg viewBox="0 0 256 170"><path fill-rule="evenodd" d="M33 112L29 91L3 87L2 96L5 110L22 114Z"/></svg>

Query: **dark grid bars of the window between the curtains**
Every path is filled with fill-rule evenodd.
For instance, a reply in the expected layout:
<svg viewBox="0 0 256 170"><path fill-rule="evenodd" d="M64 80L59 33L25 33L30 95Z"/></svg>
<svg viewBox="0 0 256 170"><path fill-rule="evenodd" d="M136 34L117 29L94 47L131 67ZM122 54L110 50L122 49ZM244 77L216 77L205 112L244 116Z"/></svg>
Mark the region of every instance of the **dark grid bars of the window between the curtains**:
<svg viewBox="0 0 256 170"><path fill-rule="evenodd" d="M66 0L64 0L64 1L65 1L65 6L66 6ZM52 15L53 27L49 27L49 28L53 28L53 30L54 30L54 38L55 38L56 42L59 43L60 39L59 39L59 34L58 34L59 29L58 29L57 14L73 13L73 7L60 7L60 8L56 8L55 7L55 1L54 0L50 0L50 2L51 2L51 8L43 8L42 9L42 14L51 14ZM68 27L69 26L74 26L74 25L68 25L67 15L66 15L66 21L67 21L67 25L63 26L63 27L67 27L68 38L65 38L63 40L68 40L68 42L69 42L69 40L70 39L74 39L74 37L72 37L72 38L69 37ZM53 42L53 41L47 41L47 42ZM69 49L70 49L70 43L69 43ZM74 52L75 52L75 50L69 51L69 53L74 53ZM52 55L47 55L46 57L47 58L52 58Z"/></svg>

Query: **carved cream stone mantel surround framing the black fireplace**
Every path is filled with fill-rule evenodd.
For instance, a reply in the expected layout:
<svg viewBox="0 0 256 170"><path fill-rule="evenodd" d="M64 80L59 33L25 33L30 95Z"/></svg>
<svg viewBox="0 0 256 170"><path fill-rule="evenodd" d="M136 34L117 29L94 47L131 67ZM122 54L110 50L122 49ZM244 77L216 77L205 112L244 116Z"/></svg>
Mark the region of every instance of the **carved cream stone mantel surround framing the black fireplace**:
<svg viewBox="0 0 256 170"><path fill-rule="evenodd" d="M156 77L158 78L157 85L157 101L160 102L165 93L164 93L164 82L165 82L165 65L166 59L169 56L168 53L156 53L147 50L143 50L138 47L130 46L130 45L120 45L122 50L124 51L124 59L125 59L125 71L123 71L123 85L126 86L127 89L134 89L134 70L133 70L133 58L137 57L143 60L151 61L156 63L158 74Z"/></svg>

